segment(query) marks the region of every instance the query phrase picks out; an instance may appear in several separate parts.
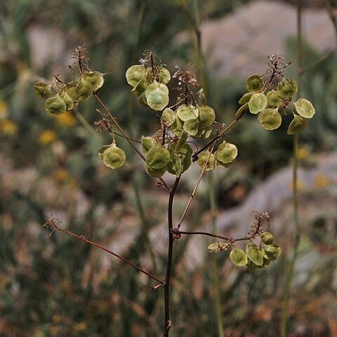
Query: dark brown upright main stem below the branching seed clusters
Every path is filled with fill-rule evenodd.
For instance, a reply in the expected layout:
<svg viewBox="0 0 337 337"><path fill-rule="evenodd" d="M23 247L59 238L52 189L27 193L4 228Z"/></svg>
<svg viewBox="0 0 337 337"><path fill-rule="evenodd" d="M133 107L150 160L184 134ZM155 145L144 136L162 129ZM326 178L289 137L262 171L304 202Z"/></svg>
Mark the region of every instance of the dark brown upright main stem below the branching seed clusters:
<svg viewBox="0 0 337 337"><path fill-rule="evenodd" d="M176 193L176 189L179 183L180 177L176 178L169 197L169 212L168 212L168 234L169 234L169 249L167 251L167 265L166 265L166 277L164 284L164 298L165 298L165 322L164 322L164 337L169 336L171 329L170 321L170 277L173 258L173 198Z"/></svg>

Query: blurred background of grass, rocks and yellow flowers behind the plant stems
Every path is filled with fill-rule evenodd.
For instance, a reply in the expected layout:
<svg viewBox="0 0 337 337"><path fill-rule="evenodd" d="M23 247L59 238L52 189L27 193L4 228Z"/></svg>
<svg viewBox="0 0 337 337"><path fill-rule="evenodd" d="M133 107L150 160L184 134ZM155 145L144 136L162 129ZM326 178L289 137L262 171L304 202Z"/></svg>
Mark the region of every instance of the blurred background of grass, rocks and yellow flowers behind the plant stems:
<svg viewBox="0 0 337 337"><path fill-rule="evenodd" d="M289 336L337 336L337 29L326 10L326 4L337 4L302 2L300 90L316 114L300 134L302 235ZM159 127L158 114L134 104L125 71L145 50L157 53L171 74L176 65L185 69L197 62L191 18L199 11L207 101L217 120L229 124L246 77L264 73L268 55L284 55L293 62L286 76L297 76L294 3L1 2L0 336L161 336L164 319L162 289L150 292L152 282L133 268L60 232L49 236L42 226L53 214L68 230L160 277L166 266L167 193L145 174L124 140L119 146L128 163L118 171L103 166L98 148L109 138L95 133L99 116L93 98L80 104L77 114L54 117L34 95L34 82L51 82L51 74L67 77L73 49L84 45L91 68L107 73L100 97L112 114L134 137L150 136ZM244 236L252 211L267 211L282 246L279 260L254 274L234 267L228 252L216 256L223 336L279 336L293 242L289 121L270 132L245 116L226 136L239 149L236 163L213 175L218 233ZM176 222L199 173L193 167L182 178ZM211 230L209 182L206 175L186 229ZM172 336L219 336L215 261L206 249L211 242L206 237L176 242Z"/></svg>

